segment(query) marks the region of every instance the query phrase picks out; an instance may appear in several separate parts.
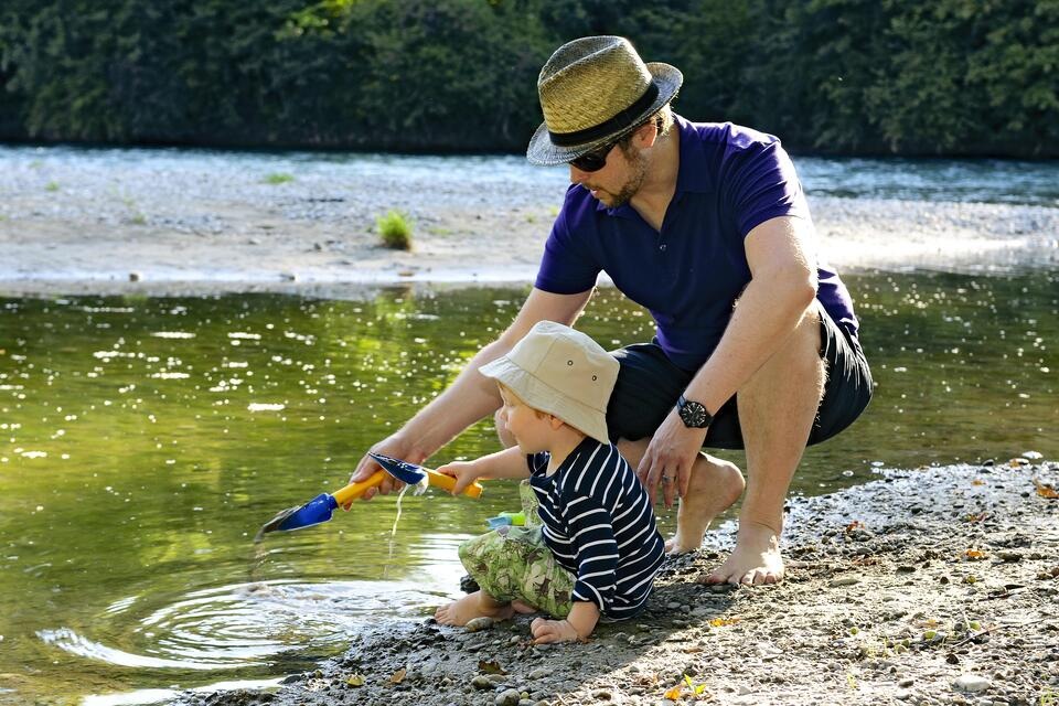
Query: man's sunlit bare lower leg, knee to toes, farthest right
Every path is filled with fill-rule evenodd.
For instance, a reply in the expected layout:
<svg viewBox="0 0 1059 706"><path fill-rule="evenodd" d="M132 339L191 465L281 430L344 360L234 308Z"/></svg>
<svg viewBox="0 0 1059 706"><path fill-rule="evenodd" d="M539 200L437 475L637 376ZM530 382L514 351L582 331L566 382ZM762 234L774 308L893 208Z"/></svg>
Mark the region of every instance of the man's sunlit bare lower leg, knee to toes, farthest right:
<svg viewBox="0 0 1059 706"><path fill-rule="evenodd" d="M774 584L783 578L783 504L824 391L820 327L814 303L787 343L739 389L747 495L736 548L703 577L706 582Z"/></svg>

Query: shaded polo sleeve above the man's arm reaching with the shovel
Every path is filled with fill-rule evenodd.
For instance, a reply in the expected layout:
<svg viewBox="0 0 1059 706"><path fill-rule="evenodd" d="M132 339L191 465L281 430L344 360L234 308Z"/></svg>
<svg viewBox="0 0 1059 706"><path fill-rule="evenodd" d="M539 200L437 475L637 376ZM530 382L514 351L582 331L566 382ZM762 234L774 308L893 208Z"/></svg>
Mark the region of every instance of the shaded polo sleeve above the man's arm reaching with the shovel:
<svg viewBox="0 0 1059 706"><path fill-rule="evenodd" d="M534 287L554 295L576 295L596 286L600 266L591 254L587 240L592 237L595 224L591 204L586 204L580 186L573 185L566 192L563 210L552 225L552 233L544 245L544 257ZM595 201L595 200L591 200Z"/></svg>

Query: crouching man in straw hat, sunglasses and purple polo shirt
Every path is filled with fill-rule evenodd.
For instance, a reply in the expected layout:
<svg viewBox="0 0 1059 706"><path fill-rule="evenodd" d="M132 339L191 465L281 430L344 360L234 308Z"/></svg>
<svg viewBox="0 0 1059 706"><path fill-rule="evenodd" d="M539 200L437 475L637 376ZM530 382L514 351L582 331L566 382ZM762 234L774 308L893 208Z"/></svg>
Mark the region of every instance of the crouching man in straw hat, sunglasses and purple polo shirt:
<svg viewBox="0 0 1059 706"><path fill-rule="evenodd" d="M783 578L783 503L802 452L859 416L871 377L852 300L817 258L779 140L673 115L682 82L622 38L553 54L527 157L569 164L571 185L535 287L500 339L373 450L419 462L494 413L501 400L478 368L541 320L573 324L606 271L657 324L651 343L614 352L607 424L652 500L660 484L666 506L681 498L668 548L697 548L744 491L734 464L700 449L745 448L736 547L702 580L771 584ZM365 458L353 478L374 470Z"/></svg>

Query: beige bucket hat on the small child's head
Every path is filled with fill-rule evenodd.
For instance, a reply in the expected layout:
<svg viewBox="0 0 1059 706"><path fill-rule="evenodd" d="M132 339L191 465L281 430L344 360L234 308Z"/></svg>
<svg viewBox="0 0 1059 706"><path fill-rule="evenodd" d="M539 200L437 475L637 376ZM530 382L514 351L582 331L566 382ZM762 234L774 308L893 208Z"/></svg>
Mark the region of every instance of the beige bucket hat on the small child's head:
<svg viewBox="0 0 1059 706"><path fill-rule="evenodd" d="M618 361L580 331L541 321L507 355L479 368L523 402L608 443L607 403L618 381Z"/></svg>

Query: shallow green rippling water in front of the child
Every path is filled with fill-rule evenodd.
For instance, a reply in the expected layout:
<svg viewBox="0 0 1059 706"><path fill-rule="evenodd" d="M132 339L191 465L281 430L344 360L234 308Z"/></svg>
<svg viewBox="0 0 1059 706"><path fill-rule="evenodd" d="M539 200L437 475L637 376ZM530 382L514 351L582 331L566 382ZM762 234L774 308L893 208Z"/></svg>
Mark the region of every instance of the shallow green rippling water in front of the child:
<svg viewBox="0 0 1059 706"><path fill-rule="evenodd" d="M881 466L1059 458L1059 276L846 279L878 393L806 452L795 492ZM275 678L457 593L457 545L514 509L514 488L408 494L393 538L387 498L252 539L343 484L524 296L0 299L0 703ZM651 335L613 290L579 325L605 346ZM482 422L434 461L496 448Z"/></svg>

